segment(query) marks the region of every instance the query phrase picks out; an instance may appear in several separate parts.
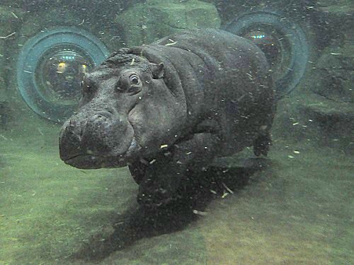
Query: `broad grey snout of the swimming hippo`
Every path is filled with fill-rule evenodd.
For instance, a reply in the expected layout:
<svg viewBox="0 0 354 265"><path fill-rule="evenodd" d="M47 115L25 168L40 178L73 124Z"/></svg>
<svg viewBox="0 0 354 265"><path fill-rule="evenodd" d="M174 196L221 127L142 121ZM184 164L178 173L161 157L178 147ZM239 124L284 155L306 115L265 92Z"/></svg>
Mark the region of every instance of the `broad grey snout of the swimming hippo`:
<svg viewBox="0 0 354 265"><path fill-rule="evenodd" d="M108 111L86 113L84 117L77 114L62 127L60 158L81 168L122 166L133 139L132 126L123 115Z"/></svg>

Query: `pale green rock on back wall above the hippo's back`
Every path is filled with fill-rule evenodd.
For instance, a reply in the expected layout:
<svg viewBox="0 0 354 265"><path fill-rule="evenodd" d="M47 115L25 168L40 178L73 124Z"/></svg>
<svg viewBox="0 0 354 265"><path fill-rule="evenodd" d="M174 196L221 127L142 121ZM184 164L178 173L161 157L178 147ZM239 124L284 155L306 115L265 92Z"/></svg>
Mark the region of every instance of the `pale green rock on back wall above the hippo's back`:
<svg viewBox="0 0 354 265"><path fill-rule="evenodd" d="M148 0L116 16L129 46L154 42L179 30L219 28L220 18L213 4L199 0Z"/></svg>

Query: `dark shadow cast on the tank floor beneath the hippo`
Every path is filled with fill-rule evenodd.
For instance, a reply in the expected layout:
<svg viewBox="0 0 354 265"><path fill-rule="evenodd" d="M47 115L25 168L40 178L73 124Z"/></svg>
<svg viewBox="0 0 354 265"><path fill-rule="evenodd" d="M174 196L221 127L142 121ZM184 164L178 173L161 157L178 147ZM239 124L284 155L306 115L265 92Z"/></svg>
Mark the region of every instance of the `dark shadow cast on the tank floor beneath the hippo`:
<svg viewBox="0 0 354 265"><path fill-rule="evenodd" d="M111 253L133 245L144 237L176 232L203 215L206 206L225 192L237 192L249 183L251 175L268 166L264 158L241 161L243 166L210 167L205 172L190 175L178 190L176 199L156 209L137 203L115 217L114 231L108 237L94 235L85 242L73 259L99 261Z"/></svg>

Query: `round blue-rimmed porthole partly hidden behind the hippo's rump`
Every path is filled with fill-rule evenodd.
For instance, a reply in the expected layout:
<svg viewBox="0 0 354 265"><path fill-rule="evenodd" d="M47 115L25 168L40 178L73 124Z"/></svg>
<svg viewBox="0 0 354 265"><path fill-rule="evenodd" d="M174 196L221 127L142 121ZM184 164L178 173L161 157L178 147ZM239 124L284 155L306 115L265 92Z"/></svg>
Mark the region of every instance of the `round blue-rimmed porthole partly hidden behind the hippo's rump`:
<svg viewBox="0 0 354 265"><path fill-rule="evenodd" d="M254 11L241 14L225 30L246 37L264 52L275 80L277 98L297 86L309 56L306 35L299 25L278 13Z"/></svg>

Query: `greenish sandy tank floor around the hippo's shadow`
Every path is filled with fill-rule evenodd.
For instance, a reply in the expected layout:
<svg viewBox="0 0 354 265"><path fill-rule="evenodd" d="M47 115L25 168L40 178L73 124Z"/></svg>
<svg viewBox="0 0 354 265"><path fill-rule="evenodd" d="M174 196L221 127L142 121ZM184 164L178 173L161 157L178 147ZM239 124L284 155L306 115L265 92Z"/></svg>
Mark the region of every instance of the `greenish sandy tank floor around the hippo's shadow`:
<svg viewBox="0 0 354 265"><path fill-rule="evenodd" d="M0 264L93 264L72 253L135 198L127 168L59 160L59 127L1 131ZM295 151L295 153L294 153ZM97 264L353 264L354 158L275 139L270 167L217 196L183 230L145 238Z"/></svg>

